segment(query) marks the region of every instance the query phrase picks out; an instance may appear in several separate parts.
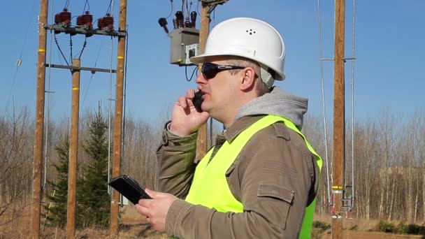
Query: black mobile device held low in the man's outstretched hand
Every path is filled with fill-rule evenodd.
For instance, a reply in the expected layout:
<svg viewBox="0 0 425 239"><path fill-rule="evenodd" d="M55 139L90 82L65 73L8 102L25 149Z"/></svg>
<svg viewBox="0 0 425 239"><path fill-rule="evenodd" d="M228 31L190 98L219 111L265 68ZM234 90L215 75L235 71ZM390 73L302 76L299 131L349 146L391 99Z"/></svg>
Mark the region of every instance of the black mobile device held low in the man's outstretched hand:
<svg viewBox="0 0 425 239"><path fill-rule="evenodd" d="M146 194L145 188L127 175L111 179L108 184L136 205L140 199L152 199Z"/></svg>

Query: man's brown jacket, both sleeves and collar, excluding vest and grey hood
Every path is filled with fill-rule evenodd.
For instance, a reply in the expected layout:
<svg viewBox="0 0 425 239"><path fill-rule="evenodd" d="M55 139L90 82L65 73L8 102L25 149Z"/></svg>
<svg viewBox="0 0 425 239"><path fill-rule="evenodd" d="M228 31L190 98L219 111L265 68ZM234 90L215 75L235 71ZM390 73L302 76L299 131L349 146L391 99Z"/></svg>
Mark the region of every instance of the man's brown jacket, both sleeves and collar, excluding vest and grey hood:
<svg viewBox="0 0 425 239"><path fill-rule="evenodd" d="M264 115L245 116L216 138L215 151ZM185 198L194 175L196 133L164 129L157 151L159 191ZM215 152L212 154L214 160ZM319 168L301 136L282 122L256 133L226 172L244 212L217 212L177 200L168 210L166 233L178 238L298 238L306 205L317 194ZM211 191L214 196L214 191Z"/></svg>

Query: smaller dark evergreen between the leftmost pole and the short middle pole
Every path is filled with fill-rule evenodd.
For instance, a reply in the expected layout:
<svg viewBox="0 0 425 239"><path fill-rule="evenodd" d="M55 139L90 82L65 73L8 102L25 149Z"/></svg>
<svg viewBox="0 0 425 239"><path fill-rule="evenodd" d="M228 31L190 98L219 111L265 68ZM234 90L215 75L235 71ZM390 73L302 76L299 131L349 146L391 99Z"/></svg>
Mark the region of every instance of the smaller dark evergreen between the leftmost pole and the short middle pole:
<svg viewBox="0 0 425 239"><path fill-rule="evenodd" d="M59 156L59 162L53 165L57 171L57 180L48 181L48 184L54 195L46 195L51 203L43 207L48 212L47 224L50 226L59 226L64 228L66 225L66 208L68 202L68 167L69 167L69 137L66 135L64 140L55 147Z"/></svg>

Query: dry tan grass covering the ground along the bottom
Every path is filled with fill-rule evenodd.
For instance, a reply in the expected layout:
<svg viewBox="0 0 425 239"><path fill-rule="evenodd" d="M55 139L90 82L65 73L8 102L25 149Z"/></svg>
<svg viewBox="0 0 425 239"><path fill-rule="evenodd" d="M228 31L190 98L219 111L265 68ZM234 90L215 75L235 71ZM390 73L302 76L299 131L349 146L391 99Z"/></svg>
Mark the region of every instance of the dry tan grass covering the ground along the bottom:
<svg viewBox="0 0 425 239"><path fill-rule="evenodd" d="M17 217L6 225L0 227L0 239L6 238L31 238L31 208L26 208L24 214ZM164 233L157 233L148 224L145 217L141 216L134 210L133 205L124 206L121 209L122 218L120 220L119 238L152 238L152 239L165 239L168 238ZM10 219L10 215L2 215L0 217L0 225ZM326 222L331 224L331 217L329 215L316 215L315 221ZM41 238L66 238L66 231L64 229L57 229L55 227L43 227L44 218L41 218ZM366 219L344 219L344 238L382 238L382 239L401 239L401 238L425 238L424 236L408 236L396 235L389 233L378 233L370 231L375 229L379 220L366 220ZM356 226L356 231L350 230ZM109 236L108 229L83 229L77 230L75 238L105 238L112 239L115 237ZM315 238L331 238L331 230L322 233L322 236Z"/></svg>

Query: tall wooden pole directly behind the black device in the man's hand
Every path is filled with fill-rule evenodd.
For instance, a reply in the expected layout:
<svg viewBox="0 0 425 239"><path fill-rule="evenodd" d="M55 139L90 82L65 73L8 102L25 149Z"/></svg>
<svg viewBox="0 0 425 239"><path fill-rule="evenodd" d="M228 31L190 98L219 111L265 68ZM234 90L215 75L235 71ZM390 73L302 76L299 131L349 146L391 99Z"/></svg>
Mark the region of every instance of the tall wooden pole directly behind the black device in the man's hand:
<svg viewBox="0 0 425 239"><path fill-rule="evenodd" d="M120 0L120 23L119 31L126 31L127 24L127 0ZM118 37L117 50L117 85L115 93L115 124L113 138L113 162L112 177L118 177L121 173L121 149L122 149L122 105L124 96L124 58L126 36ZM118 212L120 210L120 194L113 190L110 201L110 235L118 236Z"/></svg>

